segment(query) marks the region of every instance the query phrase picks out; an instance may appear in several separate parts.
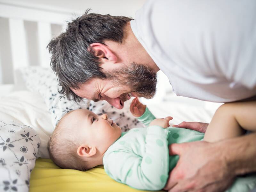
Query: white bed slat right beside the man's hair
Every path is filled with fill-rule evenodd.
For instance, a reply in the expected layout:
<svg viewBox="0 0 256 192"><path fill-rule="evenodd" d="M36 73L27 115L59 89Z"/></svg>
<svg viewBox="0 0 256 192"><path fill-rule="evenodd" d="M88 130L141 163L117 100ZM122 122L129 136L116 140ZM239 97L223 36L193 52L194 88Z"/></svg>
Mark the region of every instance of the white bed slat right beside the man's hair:
<svg viewBox="0 0 256 192"><path fill-rule="evenodd" d="M43 67L49 67L51 55L46 50L46 46L52 38L51 24L47 22L38 22L37 27L38 27L40 65Z"/></svg>

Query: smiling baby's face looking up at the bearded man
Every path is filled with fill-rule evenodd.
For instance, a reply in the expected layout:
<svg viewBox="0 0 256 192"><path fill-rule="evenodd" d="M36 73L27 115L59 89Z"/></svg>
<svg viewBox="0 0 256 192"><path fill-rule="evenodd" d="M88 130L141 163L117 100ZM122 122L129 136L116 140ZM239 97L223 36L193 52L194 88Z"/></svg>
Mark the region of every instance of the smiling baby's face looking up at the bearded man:
<svg viewBox="0 0 256 192"><path fill-rule="evenodd" d="M82 142L96 147L100 153L104 153L121 136L121 128L106 114L98 116L90 110L77 109L68 117Z"/></svg>

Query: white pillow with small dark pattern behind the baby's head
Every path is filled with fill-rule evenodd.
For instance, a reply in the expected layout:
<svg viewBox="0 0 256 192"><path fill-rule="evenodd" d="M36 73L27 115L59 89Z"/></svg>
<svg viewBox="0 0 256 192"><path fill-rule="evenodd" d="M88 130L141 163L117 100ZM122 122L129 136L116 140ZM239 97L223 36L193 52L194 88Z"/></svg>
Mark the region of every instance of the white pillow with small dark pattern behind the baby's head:
<svg viewBox="0 0 256 192"><path fill-rule="evenodd" d="M143 126L130 112L131 101L126 101L123 109L116 109L107 101L94 102L84 99L80 103L67 100L66 97L58 92L58 81L50 68L39 66L19 69L21 79L24 80L28 90L39 92L45 100L45 103L52 114L52 124L55 126L60 118L71 110L85 108L101 115L106 113L122 131L128 131L134 127ZM88 90L90 91L90 90Z"/></svg>

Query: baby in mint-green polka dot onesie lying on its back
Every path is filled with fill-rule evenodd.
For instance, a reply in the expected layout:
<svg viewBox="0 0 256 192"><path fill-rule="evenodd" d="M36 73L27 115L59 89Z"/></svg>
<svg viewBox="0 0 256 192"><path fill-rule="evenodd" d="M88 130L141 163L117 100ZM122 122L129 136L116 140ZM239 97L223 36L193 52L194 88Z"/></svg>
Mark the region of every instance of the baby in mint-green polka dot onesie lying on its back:
<svg viewBox="0 0 256 192"><path fill-rule="evenodd" d="M103 164L107 174L118 182L137 189L160 190L179 159L169 156L168 145L203 139L214 142L239 136L244 129L255 131L255 106L255 101L222 105L205 136L169 127L172 117L156 119L137 98L130 110L147 127L123 133L106 114L98 116L90 110L77 109L61 118L48 150L51 159L62 168L84 171Z"/></svg>

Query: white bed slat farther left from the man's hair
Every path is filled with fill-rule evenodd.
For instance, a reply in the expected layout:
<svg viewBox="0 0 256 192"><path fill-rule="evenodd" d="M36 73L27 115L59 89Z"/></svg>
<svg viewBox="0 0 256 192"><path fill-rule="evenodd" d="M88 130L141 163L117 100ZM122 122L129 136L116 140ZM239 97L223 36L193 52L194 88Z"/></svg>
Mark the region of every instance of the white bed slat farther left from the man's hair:
<svg viewBox="0 0 256 192"><path fill-rule="evenodd" d="M20 19L9 19L13 69L28 66L28 49L24 22Z"/></svg>

